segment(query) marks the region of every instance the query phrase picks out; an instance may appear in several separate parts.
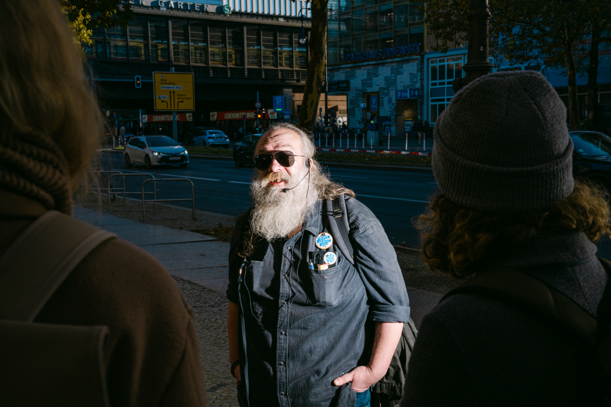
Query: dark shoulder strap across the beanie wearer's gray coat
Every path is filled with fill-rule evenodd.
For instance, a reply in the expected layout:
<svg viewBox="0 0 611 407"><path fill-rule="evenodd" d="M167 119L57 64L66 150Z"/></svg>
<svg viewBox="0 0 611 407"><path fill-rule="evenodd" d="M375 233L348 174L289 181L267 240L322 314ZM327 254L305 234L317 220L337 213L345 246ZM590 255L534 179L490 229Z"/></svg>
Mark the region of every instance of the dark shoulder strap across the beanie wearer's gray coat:
<svg viewBox="0 0 611 407"><path fill-rule="evenodd" d="M527 306L568 327L596 345L596 320L583 308L542 281L512 268L496 267L453 289L441 299L459 293L483 294Z"/></svg>

